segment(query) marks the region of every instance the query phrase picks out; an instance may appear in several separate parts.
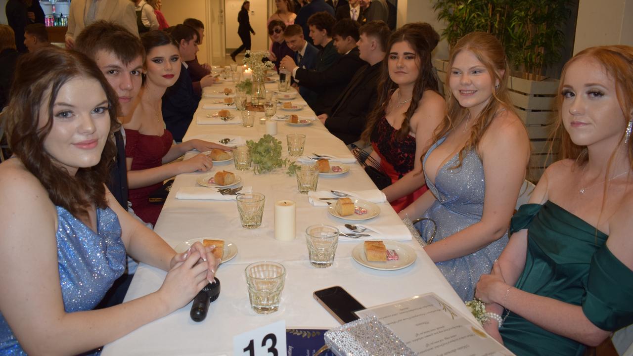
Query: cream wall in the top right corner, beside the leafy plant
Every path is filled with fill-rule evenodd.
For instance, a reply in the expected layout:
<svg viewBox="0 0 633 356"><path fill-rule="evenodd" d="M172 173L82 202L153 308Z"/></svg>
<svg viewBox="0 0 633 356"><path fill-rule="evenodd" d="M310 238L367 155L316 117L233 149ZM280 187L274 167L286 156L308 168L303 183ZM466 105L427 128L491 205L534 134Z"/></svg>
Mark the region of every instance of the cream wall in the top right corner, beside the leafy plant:
<svg viewBox="0 0 633 356"><path fill-rule="evenodd" d="M592 46L633 46L633 0L580 0L573 53Z"/></svg>

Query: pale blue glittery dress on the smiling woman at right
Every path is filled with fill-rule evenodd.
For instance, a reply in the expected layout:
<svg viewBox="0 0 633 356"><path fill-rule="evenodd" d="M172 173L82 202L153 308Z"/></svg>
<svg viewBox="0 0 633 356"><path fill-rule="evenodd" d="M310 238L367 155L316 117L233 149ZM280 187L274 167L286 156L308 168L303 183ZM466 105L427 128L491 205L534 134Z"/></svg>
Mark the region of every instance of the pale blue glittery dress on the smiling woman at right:
<svg viewBox="0 0 633 356"><path fill-rule="evenodd" d="M424 164L430 153L444 142L442 137L436 144L429 148L424 156ZM433 243L459 232L475 222L479 222L484 211L484 191L486 181L484 179L484 165L475 150L465 155L461 167L449 169L457 165L458 154L454 155L437 172L435 184L424 177L429 190L436 197L436 201L424 213L423 217L434 220L437 224L436 236ZM418 223L418 229L422 231L422 238L428 241L433 232L433 223L422 220ZM490 273L492 264L501 251L508 244L508 232L502 238L470 255L454 258L444 262L438 262L437 268L448 279L461 300L471 300L479 277Z"/></svg>

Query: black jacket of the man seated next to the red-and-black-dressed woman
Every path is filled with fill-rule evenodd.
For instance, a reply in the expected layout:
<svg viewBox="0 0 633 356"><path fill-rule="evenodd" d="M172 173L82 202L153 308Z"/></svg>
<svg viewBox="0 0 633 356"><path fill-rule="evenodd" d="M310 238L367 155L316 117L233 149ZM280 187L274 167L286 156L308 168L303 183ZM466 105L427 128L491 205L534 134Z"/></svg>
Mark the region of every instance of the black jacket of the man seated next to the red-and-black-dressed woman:
<svg viewBox="0 0 633 356"><path fill-rule="evenodd" d="M358 141L365 129L367 116L378 100L381 68L382 61L361 67L327 113L325 127L345 144Z"/></svg>

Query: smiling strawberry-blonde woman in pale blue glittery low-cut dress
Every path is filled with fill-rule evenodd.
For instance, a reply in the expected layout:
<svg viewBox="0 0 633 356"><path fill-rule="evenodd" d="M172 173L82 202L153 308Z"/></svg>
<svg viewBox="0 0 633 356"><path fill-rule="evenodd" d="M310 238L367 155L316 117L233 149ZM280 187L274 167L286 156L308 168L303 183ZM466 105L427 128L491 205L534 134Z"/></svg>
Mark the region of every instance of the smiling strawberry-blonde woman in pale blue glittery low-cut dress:
<svg viewBox="0 0 633 356"><path fill-rule="evenodd" d="M448 115L423 155L427 191L399 213L423 215L424 250L461 299L508 243L530 155L527 131L508 96L503 47L485 32L465 35L449 62Z"/></svg>

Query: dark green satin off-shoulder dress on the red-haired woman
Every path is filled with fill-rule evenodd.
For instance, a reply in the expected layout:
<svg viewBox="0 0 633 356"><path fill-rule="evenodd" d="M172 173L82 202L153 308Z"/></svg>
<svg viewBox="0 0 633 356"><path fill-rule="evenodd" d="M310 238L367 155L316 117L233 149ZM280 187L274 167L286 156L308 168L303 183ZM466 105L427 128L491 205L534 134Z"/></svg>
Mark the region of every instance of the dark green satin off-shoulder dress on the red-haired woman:
<svg viewBox="0 0 633 356"><path fill-rule="evenodd" d="M528 229L528 245L516 288L580 305L603 330L633 323L633 271L609 251L606 234L551 201L522 205L510 224L511 232L521 229ZM513 312L499 332L517 355L582 355L585 350Z"/></svg>

